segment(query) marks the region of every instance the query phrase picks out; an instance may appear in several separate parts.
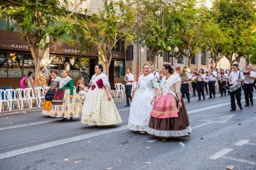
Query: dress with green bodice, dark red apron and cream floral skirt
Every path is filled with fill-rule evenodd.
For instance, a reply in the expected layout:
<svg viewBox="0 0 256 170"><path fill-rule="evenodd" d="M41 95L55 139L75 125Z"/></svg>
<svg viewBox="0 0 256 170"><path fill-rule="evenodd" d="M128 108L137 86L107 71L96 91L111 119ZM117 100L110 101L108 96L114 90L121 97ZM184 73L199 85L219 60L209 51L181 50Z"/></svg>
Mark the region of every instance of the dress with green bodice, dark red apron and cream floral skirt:
<svg viewBox="0 0 256 170"><path fill-rule="evenodd" d="M73 95L73 99L70 99ZM82 114L82 104L76 91L73 90L73 80L68 76L61 80L56 91L49 116L55 118L77 118Z"/></svg>

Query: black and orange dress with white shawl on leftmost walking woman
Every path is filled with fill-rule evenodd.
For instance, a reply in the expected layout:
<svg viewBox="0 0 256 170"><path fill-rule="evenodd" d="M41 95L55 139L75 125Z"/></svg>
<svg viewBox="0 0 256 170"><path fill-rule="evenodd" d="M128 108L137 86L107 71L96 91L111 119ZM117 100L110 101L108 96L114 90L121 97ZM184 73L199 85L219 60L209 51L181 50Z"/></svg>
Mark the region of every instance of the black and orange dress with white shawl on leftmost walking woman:
<svg viewBox="0 0 256 170"><path fill-rule="evenodd" d="M50 114L53 97L55 95L56 88L59 87L60 81L61 81L61 77L56 77L55 79L51 79L50 87L45 93L44 105L42 105L42 114L44 115Z"/></svg>

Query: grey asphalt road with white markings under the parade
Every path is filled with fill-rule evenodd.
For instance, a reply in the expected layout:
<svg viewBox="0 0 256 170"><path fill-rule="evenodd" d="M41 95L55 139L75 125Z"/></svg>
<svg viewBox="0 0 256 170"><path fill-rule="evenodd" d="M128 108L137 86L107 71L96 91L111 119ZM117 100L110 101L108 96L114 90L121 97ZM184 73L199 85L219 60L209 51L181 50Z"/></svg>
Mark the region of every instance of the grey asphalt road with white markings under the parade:
<svg viewBox="0 0 256 170"><path fill-rule="evenodd" d="M60 122L39 111L0 115L0 169L256 169L255 106L230 112L229 96L192 97L186 102L191 137L162 143L129 131L129 108L116 105L123 123L106 127Z"/></svg>

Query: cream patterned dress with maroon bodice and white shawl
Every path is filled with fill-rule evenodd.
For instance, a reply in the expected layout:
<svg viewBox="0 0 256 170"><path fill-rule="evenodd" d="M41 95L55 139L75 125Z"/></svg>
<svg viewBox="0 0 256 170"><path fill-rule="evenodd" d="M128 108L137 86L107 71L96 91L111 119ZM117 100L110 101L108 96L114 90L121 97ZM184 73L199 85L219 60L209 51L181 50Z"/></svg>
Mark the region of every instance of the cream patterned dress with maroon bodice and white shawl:
<svg viewBox="0 0 256 170"><path fill-rule="evenodd" d="M104 89L109 85L108 77L104 73L95 74L90 83L92 87L84 101L81 122L97 126L120 124L122 120L117 107L112 98L108 100Z"/></svg>

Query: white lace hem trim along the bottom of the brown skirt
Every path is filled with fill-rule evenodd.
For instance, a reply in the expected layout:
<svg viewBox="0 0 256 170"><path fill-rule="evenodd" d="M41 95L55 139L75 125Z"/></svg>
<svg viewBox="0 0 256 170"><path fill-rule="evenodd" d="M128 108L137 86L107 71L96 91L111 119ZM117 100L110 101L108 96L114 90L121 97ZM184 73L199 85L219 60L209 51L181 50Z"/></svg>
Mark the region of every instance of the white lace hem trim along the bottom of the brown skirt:
<svg viewBox="0 0 256 170"><path fill-rule="evenodd" d="M187 126L184 130L156 130L148 127L147 132L149 134L153 134L155 136L162 137L179 137L179 136L187 136L190 132L192 132L191 126Z"/></svg>

